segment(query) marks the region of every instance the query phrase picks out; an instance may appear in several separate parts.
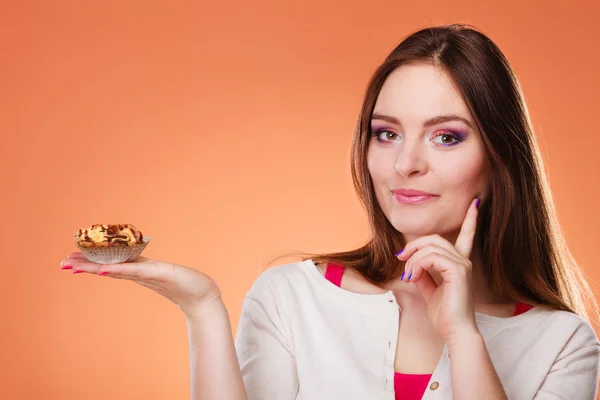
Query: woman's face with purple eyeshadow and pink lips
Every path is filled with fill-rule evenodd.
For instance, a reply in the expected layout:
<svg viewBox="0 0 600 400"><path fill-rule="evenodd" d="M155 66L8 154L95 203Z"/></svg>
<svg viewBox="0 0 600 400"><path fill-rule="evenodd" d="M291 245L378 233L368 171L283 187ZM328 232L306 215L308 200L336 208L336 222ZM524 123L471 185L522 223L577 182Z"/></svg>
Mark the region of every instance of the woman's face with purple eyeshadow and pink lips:
<svg viewBox="0 0 600 400"><path fill-rule="evenodd" d="M429 64L396 69L375 103L371 133L369 172L394 228L406 241L457 234L471 201L488 193L489 164L450 77Z"/></svg>

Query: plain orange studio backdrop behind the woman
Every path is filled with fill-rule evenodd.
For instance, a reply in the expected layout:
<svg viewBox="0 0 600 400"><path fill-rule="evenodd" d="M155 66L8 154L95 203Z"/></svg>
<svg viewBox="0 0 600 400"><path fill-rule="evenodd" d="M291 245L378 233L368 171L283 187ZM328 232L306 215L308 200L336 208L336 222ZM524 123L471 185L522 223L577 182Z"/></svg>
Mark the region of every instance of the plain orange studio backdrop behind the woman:
<svg viewBox="0 0 600 400"><path fill-rule="evenodd" d="M5 399L185 399L181 312L59 262L93 223L221 285L235 327L272 258L366 240L349 149L370 74L465 22L522 83L576 259L598 279L598 2L13 1L0 13ZM596 293L600 293L596 290Z"/></svg>

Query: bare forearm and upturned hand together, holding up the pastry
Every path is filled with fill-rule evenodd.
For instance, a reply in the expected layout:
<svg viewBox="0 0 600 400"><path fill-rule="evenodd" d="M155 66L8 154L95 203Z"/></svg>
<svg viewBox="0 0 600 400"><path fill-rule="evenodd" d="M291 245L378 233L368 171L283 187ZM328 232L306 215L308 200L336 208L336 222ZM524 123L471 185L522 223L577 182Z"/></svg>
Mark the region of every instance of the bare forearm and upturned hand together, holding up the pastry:
<svg viewBox="0 0 600 400"><path fill-rule="evenodd" d="M97 264L82 253L61 262L62 269L129 279L166 297L183 311L190 349L193 400L248 400L221 290L208 275L183 265L138 257L119 264Z"/></svg>

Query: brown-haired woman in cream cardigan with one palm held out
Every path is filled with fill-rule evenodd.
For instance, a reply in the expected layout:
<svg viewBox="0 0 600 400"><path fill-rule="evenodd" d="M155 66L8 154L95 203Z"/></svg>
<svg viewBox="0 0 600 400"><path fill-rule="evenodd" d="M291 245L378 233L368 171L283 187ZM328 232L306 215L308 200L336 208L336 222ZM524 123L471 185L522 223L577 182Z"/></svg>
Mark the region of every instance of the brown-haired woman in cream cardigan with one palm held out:
<svg viewBox="0 0 600 400"><path fill-rule="evenodd" d="M182 309L195 399L595 398L600 344L583 299L597 308L489 38L452 25L400 43L367 88L351 161L372 239L261 274L237 357L201 272L78 253L62 265L132 279Z"/></svg>

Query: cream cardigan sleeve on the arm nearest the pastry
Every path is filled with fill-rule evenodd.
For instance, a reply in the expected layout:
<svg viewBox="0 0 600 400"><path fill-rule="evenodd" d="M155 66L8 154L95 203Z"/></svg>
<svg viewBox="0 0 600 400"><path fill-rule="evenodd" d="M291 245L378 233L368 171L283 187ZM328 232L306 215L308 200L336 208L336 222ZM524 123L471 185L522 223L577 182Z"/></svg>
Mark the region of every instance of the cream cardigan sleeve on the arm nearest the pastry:
<svg viewBox="0 0 600 400"><path fill-rule="evenodd" d="M296 361L280 310L261 286L255 284L244 299L236 335L244 385L249 400L292 400L298 393Z"/></svg>

